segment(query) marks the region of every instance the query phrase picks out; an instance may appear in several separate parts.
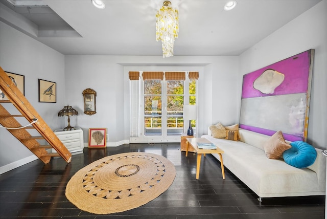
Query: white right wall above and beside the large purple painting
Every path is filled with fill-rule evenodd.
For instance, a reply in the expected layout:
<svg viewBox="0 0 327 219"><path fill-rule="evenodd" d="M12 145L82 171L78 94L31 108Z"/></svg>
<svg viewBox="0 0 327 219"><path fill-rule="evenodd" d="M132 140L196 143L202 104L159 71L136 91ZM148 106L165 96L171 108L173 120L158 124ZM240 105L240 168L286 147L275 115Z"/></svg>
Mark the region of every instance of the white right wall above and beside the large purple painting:
<svg viewBox="0 0 327 219"><path fill-rule="evenodd" d="M248 49L239 59L240 78L298 53L315 49L309 112L309 144L327 145L327 0L301 14ZM239 81L242 87L242 79Z"/></svg>

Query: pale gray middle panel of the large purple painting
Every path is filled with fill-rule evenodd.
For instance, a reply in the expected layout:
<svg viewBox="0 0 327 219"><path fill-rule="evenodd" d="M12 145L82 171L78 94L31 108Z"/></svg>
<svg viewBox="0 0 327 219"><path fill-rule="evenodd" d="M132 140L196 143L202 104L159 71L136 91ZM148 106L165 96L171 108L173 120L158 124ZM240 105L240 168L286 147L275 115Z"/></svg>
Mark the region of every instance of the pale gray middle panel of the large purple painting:
<svg viewBox="0 0 327 219"><path fill-rule="evenodd" d="M240 124L303 134L307 94L288 94L241 101Z"/></svg>

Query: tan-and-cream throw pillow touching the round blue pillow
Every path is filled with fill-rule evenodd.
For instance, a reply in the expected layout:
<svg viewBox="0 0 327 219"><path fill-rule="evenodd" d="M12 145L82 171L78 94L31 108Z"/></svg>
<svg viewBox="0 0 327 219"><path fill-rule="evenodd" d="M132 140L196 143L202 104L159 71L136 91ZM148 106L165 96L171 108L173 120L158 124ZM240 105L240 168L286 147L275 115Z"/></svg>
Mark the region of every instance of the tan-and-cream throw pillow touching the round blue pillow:
<svg viewBox="0 0 327 219"><path fill-rule="evenodd" d="M285 142L281 131L273 134L264 144L264 150L267 158L279 159L283 152L292 146Z"/></svg>

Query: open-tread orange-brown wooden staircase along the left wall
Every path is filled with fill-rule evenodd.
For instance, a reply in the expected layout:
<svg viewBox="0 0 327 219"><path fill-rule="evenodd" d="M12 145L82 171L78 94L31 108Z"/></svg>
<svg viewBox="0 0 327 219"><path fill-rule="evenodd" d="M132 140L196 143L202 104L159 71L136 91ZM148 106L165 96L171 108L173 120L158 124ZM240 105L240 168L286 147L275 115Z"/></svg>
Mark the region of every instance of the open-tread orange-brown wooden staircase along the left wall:
<svg viewBox="0 0 327 219"><path fill-rule="evenodd" d="M71 152L62 144L52 129L44 122L1 67L0 89L8 98L8 100L0 100L0 124L7 127L7 130L13 136L29 148L44 163L49 163L51 157L62 157L67 163L71 162ZM18 109L21 113L20 115L11 115L3 106L4 104L10 103ZM25 117L29 123L32 123L32 126L23 127L15 117ZM31 136L28 129L36 129L41 136ZM41 145L37 140L45 140L49 145ZM48 152L46 149L49 148L54 148L57 153Z"/></svg>

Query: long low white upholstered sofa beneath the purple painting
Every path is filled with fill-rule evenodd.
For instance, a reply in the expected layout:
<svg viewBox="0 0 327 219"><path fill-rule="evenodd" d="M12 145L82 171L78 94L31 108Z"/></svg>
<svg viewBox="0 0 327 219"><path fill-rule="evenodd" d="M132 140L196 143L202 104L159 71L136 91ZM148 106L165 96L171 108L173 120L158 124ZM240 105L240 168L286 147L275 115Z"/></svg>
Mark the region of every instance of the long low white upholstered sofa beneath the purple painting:
<svg viewBox="0 0 327 219"><path fill-rule="evenodd" d="M268 159L263 144L270 136L239 129L240 140L217 139L202 136L224 150L223 164L236 177L262 198L284 196L324 195L326 159L317 149L317 158L311 166L299 169L281 158ZM214 154L213 154L214 155ZM219 156L214 155L218 160Z"/></svg>

